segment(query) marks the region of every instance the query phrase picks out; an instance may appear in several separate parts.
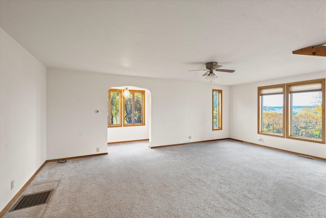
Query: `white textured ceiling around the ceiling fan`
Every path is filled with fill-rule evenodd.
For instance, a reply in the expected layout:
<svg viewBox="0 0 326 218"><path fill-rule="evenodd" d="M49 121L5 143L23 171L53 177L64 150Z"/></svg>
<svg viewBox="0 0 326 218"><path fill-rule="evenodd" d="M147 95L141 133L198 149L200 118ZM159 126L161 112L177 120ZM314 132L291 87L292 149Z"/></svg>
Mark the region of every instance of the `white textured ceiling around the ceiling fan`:
<svg viewBox="0 0 326 218"><path fill-rule="evenodd" d="M0 27L45 66L235 85L326 70L326 1L0 1Z"/></svg>

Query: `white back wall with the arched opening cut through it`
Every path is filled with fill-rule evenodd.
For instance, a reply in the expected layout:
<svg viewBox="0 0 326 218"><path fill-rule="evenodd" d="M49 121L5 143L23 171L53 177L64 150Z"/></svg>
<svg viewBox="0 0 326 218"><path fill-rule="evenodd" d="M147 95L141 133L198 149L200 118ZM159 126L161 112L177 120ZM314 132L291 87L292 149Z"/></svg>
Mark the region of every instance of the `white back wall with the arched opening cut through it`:
<svg viewBox="0 0 326 218"><path fill-rule="evenodd" d="M126 84L151 93L151 147L229 137L228 86L48 69L47 159L106 152L107 90ZM221 131L212 131L212 89L223 90Z"/></svg>

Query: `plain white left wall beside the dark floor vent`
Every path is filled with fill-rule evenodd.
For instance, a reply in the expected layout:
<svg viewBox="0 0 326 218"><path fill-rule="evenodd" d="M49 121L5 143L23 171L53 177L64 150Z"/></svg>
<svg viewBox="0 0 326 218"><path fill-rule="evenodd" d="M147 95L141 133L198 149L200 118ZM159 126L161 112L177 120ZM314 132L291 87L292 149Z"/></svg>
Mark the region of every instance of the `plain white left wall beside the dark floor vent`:
<svg viewBox="0 0 326 218"><path fill-rule="evenodd" d="M2 210L46 160L46 67L1 28L0 48Z"/></svg>

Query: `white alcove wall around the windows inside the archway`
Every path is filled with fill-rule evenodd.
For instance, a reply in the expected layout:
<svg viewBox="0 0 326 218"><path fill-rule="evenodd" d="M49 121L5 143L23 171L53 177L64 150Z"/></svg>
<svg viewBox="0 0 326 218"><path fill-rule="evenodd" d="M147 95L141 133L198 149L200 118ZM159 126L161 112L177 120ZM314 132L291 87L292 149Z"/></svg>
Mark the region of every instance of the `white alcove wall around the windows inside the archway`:
<svg viewBox="0 0 326 218"><path fill-rule="evenodd" d="M114 89L124 89L123 87L111 87ZM145 91L145 125L137 127L111 127L107 128L107 142L120 142L120 141L131 141L131 140L142 140L149 139L149 126L151 123L150 112L151 112L151 93L147 89L141 87L128 86L130 90L144 90Z"/></svg>

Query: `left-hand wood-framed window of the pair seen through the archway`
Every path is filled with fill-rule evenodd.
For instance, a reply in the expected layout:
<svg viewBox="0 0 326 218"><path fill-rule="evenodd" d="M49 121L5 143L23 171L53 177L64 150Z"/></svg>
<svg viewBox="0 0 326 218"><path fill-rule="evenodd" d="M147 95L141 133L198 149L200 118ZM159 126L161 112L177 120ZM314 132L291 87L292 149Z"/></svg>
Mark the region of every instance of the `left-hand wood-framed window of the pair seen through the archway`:
<svg viewBox="0 0 326 218"><path fill-rule="evenodd" d="M107 127L121 127L122 126L122 116L121 116L121 106L122 101L122 90L110 89L107 92Z"/></svg>

